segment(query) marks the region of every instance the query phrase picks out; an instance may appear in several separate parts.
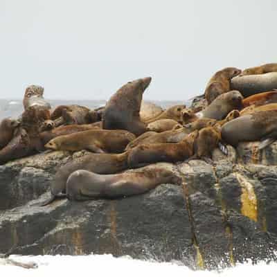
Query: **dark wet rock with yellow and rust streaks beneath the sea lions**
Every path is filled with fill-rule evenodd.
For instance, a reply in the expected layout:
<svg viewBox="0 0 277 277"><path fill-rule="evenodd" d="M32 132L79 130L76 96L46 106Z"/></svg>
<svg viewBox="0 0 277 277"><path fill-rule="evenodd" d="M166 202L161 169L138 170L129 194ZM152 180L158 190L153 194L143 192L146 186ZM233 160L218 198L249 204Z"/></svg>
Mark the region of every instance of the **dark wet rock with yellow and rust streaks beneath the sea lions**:
<svg viewBox="0 0 277 277"><path fill-rule="evenodd" d="M69 202L49 197L62 164L86 154L50 152L0 167L0 253L24 255L112 253L199 269L251 259L275 260L277 143L215 150L201 160L171 165L184 179L144 195ZM253 158L254 157L254 158ZM257 158L258 157L258 158Z"/></svg>

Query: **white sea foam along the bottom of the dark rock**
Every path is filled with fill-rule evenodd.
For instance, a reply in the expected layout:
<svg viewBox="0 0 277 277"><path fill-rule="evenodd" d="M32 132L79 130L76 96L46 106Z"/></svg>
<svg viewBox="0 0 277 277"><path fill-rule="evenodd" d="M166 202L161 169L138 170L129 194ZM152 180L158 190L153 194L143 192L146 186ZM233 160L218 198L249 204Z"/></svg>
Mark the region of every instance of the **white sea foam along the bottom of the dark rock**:
<svg viewBox="0 0 277 277"><path fill-rule="evenodd" d="M13 265L3 265L0 262L1 276L20 277L141 277L141 276L175 276L175 277L231 277L231 276L274 276L277 263L260 262L258 265L245 263L229 269L217 271L193 271L185 266L170 262L150 262L132 258L114 258L111 255L90 256L10 256L17 262L35 262L37 269L24 269Z"/></svg>

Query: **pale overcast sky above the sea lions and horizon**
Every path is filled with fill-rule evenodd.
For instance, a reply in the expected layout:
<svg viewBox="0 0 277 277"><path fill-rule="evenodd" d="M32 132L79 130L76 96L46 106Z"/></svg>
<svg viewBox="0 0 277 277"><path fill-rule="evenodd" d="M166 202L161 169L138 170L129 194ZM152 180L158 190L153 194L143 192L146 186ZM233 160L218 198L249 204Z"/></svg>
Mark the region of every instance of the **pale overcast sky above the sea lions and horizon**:
<svg viewBox="0 0 277 277"><path fill-rule="evenodd" d="M276 0L0 0L0 98L186 100L226 66L277 62Z"/></svg>

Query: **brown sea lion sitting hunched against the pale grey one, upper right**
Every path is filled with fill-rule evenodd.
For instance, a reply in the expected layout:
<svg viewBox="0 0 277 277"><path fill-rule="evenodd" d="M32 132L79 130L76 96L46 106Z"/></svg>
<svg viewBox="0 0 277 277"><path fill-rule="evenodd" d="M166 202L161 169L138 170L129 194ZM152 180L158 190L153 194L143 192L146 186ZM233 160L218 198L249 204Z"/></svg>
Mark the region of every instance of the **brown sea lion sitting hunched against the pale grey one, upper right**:
<svg viewBox="0 0 277 277"><path fill-rule="evenodd" d="M238 76L241 72L240 69L236 69L235 67L226 67L225 69L217 71L211 80L208 81L205 89L205 98L208 104L211 104L222 93L231 91L231 79Z"/></svg>

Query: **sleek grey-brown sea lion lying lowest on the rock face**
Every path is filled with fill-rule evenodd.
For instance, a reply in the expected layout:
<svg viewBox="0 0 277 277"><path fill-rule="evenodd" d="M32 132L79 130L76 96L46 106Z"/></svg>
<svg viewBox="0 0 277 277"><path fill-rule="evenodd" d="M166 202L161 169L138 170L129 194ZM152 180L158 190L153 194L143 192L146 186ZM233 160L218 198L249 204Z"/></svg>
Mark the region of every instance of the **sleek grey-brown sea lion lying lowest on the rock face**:
<svg viewBox="0 0 277 277"><path fill-rule="evenodd" d="M77 170L66 181L66 197L70 200L114 199L147 193L160 184L181 184L181 178L159 166L113 175Z"/></svg>

